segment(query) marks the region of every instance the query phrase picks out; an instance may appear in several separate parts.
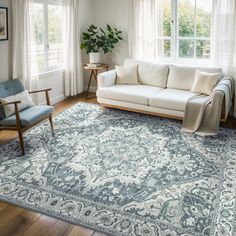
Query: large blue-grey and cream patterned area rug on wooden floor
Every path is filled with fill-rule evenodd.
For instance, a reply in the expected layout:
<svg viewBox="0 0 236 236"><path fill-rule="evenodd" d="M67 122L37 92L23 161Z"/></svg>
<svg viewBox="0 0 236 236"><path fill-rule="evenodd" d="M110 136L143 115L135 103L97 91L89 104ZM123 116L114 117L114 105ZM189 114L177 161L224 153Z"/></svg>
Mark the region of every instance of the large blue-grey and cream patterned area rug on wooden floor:
<svg viewBox="0 0 236 236"><path fill-rule="evenodd" d="M0 200L108 235L235 236L236 131L79 103L0 147Z"/></svg>

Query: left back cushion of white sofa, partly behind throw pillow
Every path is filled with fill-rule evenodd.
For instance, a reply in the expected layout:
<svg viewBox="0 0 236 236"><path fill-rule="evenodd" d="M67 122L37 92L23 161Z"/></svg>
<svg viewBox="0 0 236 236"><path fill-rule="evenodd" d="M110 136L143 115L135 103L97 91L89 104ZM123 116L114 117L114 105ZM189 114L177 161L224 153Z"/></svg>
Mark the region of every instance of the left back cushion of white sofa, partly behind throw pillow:
<svg viewBox="0 0 236 236"><path fill-rule="evenodd" d="M133 59L126 59L124 66L138 65L138 81L143 85L166 88L169 73L168 64L155 64Z"/></svg>

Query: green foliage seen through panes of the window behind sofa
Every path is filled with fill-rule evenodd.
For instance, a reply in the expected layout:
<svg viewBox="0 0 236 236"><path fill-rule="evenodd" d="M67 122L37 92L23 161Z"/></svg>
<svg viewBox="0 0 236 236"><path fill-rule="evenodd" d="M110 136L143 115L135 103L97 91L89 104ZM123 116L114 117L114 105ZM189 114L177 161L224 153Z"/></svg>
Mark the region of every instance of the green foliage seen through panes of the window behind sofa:
<svg viewBox="0 0 236 236"><path fill-rule="evenodd" d="M170 2L165 1L163 6L163 36L171 36L171 8ZM179 37L194 37L195 36L195 12L192 1L178 1L178 29ZM211 33L211 13L197 7L196 12L196 36L210 37ZM196 56L197 58L208 58L210 51L209 40L197 40ZM170 41L164 41L165 56L170 55ZM179 41L179 57L193 57L194 43L192 40Z"/></svg>

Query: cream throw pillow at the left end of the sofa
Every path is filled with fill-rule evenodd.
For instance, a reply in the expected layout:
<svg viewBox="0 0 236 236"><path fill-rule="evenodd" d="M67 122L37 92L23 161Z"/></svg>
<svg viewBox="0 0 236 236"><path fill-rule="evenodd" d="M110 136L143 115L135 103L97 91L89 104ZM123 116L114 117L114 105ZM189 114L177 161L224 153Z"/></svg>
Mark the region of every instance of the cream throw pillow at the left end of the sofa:
<svg viewBox="0 0 236 236"><path fill-rule="evenodd" d="M139 84L137 65L130 67L115 66L115 68L116 84Z"/></svg>

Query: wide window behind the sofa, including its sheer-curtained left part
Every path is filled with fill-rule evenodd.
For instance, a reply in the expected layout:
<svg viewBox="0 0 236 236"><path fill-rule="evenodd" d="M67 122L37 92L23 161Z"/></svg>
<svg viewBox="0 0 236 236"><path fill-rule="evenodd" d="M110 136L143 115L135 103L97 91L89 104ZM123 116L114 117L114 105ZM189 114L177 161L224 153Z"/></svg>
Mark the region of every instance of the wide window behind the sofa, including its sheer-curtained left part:
<svg viewBox="0 0 236 236"><path fill-rule="evenodd" d="M171 61L211 59L212 0L137 2L133 10L135 57Z"/></svg>

